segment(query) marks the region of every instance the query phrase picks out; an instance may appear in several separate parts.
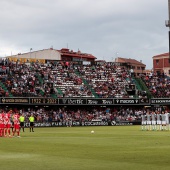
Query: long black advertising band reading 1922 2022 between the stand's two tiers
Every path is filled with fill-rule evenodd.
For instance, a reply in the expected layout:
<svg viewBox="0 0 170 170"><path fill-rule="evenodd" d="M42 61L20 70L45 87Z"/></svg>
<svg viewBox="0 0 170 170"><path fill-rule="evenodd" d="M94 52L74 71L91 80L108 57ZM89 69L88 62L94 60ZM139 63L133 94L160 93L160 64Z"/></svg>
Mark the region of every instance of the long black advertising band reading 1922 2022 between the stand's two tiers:
<svg viewBox="0 0 170 170"><path fill-rule="evenodd" d="M118 98L37 98L1 97L0 104L27 105L170 105L170 99L118 99Z"/></svg>

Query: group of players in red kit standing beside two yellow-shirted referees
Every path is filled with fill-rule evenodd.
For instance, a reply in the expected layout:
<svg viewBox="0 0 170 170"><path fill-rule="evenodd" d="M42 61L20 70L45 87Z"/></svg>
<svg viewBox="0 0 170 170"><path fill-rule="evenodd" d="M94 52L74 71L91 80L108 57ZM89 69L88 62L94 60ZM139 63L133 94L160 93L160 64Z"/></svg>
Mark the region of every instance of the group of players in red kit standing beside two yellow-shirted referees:
<svg viewBox="0 0 170 170"><path fill-rule="evenodd" d="M20 121L19 114L9 110L0 113L0 137L20 137Z"/></svg>

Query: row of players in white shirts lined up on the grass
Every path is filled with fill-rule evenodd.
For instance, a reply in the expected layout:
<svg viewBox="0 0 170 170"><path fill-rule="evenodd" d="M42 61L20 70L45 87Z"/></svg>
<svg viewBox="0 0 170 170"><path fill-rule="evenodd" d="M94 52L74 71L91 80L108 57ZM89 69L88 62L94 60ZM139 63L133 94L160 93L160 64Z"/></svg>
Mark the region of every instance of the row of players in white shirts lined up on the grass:
<svg viewBox="0 0 170 170"><path fill-rule="evenodd" d="M170 130L168 111L147 111L141 115L142 130Z"/></svg>

